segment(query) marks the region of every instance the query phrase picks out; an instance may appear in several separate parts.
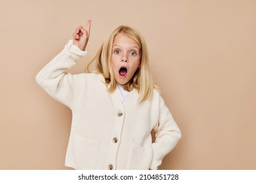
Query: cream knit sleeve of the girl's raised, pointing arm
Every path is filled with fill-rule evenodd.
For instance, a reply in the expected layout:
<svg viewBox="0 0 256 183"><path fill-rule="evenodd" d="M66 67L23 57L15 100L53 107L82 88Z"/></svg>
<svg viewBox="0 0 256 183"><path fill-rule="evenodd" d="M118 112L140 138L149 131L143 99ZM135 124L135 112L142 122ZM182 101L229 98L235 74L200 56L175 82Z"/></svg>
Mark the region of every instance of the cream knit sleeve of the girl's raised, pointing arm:
<svg viewBox="0 0 256 183"><path fill-rule="evenodd" d="M86 51L80 50L70 40L62 52L43 67L35 78L49 95L71 109L81 90L83 74L71 75L66 73L66 69L73 67L75 61L86 54Z"/></svg>

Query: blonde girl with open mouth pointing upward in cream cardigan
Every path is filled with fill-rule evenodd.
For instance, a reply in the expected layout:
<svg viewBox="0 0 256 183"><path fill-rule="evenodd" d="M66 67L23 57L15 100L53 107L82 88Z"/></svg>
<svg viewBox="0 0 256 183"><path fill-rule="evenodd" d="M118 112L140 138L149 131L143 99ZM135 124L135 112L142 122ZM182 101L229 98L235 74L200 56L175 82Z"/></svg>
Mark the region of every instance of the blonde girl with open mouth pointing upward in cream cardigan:
<svg viewBox="0 0 256 183"><path fill-rule="evenodd" d="M87 54L90 27L91 20L86 28L77 27L74 39L36 76L47 93L72 110L65 165L158 169L181 131L149 73L144 39L131 27L117 27L91 61L96 72L71 75L66 69Z"/></svg>

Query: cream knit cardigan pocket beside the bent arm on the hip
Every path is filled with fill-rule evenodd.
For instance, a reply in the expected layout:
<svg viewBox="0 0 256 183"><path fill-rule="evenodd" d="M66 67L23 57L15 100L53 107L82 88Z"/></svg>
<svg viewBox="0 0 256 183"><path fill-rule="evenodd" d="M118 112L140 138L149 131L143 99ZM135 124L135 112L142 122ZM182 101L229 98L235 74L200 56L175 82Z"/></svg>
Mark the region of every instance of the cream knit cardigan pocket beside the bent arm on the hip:
<svg viewBox="0 0 256 183"><path fill-rule="evenodd" d="M133 144L129 152L129 170L148 170L152 162L152 148L143 148Z"/></svg>

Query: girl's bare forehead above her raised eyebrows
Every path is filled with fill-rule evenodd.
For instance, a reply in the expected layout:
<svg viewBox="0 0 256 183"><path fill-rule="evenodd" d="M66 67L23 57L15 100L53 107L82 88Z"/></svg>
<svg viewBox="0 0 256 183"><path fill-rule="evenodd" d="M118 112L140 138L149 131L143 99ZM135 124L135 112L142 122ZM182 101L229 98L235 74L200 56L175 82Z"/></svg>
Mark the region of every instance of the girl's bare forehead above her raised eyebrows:
<svg viewBox="0 0 256 183"><path fill-rule="evenodd" d="M136 47L140 49L140 45L137 41L132 39L131 37L128 37L127 35L117 34L114 38L113 47L114 46L130 46L130 47Z"/></svg>

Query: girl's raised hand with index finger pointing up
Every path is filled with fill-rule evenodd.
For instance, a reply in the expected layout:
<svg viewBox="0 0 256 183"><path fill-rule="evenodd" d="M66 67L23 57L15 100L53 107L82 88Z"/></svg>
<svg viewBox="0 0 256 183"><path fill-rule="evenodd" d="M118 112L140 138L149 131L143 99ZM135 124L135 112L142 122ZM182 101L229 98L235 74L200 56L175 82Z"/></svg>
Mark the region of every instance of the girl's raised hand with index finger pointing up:
<svg viewBox="0 0 256 183"><path fill-rule="evenodd" d="M82 25L79 25L73 33L74 44L83 51L85 50L87 42L89 41L90 29L91 20L88 20L85 28Z"/></svg>

